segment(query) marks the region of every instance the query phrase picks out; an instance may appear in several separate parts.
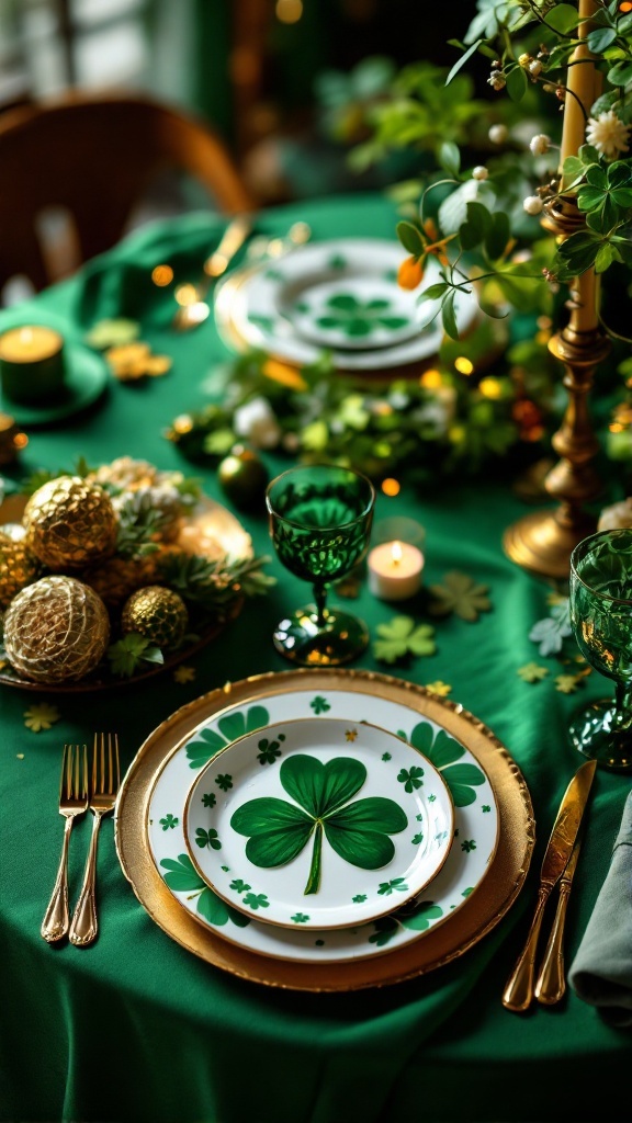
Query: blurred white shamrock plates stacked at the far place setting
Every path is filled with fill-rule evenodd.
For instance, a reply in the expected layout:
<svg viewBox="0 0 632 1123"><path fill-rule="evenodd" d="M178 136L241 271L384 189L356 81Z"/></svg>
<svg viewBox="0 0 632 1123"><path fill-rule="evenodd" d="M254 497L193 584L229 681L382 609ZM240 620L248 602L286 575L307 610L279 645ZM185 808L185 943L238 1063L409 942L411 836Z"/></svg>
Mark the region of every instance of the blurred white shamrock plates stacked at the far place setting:
<svg viewBox="0 0 632 1123"><path fill-rule="evenodd" d="M419 291L397 284L405 257L398 241L342 238L236 271L216 290L218 329L231 346L242 340L301 366L315 363L323 350L347 371L427 358L437 353L443 327L440 316L426 325L433 305ZM437 280L439 264L432 258L424 287ZM476 308L473 294L457 294L460 332L472 323Z"/></svg>

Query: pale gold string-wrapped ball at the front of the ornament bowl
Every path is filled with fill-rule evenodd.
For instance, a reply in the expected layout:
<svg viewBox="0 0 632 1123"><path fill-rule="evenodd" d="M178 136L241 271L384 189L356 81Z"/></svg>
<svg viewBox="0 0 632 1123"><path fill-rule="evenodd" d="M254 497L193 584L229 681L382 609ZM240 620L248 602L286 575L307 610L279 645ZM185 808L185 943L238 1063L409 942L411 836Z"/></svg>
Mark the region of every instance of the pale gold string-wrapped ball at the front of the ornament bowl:
<svg viewBox="0 0 632 1123"><path fill-rule="evenodd" d="M4 614L7 658L36 683L84 678L102 659L109 636L103 602L75 577L40 577L13 597Z"/></svg>

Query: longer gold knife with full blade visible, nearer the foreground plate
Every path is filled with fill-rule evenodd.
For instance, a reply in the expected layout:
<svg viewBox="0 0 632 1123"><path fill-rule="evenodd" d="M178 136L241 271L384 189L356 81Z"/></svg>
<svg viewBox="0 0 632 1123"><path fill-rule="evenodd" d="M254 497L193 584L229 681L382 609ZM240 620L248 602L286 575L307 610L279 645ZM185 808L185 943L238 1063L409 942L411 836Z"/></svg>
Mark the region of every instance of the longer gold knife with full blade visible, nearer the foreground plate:
<svg viewBox="0 0 632 1123"><path fill-rule="evenodd" d="M596 760L587 760L577 769L568 785L560 810L558 811L553 830L549 839L542 870L538 904L531 921L526 943L514 967L503 993L503 1005L516 1012L527 1010L533 998L533 976L535 974L535 952L542 924L544 905L554 885L562 876L579 832L584 809L590 794L590 785L597 767Z"/></svg>

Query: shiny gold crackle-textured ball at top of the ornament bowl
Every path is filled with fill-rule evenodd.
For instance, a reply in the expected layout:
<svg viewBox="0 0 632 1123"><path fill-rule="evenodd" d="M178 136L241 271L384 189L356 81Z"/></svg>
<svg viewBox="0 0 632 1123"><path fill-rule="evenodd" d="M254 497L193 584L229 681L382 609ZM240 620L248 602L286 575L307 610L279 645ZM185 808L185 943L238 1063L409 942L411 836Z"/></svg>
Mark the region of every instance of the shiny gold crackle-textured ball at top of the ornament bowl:
<svg viewBox="0 0 632 1123"><path fill-rule="evenodd" d="M54 572L83 569L116 547L118 520L109 495L80 476L58 476L38 487L22 521L29 549Z"/></svg>

